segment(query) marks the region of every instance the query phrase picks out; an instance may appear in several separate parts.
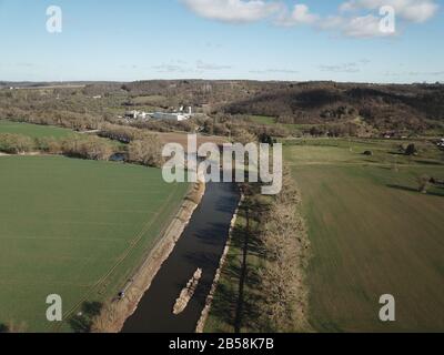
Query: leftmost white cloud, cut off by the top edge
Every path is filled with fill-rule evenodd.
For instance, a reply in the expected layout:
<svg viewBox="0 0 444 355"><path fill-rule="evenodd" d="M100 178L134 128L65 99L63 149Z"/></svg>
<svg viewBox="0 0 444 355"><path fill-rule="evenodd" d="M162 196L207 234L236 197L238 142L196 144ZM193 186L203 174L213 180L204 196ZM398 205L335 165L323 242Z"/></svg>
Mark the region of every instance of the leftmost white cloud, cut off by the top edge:
<svg viewBox="0 0 444 355"><path fill-rule="evenodd" d="M270 18L282 9L276 1L181 0L194 13L225 22L253 22Z"/></svg>

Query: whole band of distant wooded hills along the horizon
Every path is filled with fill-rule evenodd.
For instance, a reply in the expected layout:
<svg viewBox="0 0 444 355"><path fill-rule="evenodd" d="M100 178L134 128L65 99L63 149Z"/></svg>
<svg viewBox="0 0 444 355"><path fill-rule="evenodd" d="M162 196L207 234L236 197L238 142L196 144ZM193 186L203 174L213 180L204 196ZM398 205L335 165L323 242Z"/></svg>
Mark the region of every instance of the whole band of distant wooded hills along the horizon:
<svg viewBox="0 0 444 355"><path fill-rule="evenodd" d="M150 80L135 82L0 82L0 88L83 85L85 95L117 93L160 108L205 106L205 112L272 116L281 123L359 120L376 129L424 130L444 124L443 84ZM139 100L140 101L140 100ZM132 100L129 101L130 103ZM138 102L138 100L134 100Z"/></svg>

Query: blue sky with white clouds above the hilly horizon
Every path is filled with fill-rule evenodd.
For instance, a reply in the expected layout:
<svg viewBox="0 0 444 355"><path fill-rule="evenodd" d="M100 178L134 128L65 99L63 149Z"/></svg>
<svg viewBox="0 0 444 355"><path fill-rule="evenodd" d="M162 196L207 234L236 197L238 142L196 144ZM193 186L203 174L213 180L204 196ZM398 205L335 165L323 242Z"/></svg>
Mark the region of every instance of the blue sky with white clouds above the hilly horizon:
<svg viewBox="0 0 444 355"><path fill-rule="evenodd" d="M444 81L437 0L0 0L0 80ZM394 4L396 32L374 26ZM47 8L62 32L47 31Z"/></svg>

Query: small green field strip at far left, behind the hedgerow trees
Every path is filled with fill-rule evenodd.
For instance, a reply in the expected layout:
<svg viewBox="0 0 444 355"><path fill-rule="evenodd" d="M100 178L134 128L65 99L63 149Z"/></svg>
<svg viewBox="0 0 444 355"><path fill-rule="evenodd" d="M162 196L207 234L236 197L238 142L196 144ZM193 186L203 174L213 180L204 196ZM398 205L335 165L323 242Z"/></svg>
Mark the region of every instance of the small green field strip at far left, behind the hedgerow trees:
<svg viewBox="0 0 444 355"><path fill-rule="evenodd" d="M21 122L0 120L0 133L22 134L30 138L56 138L63 139L75 134L71 130L57 126L37 125Z"/></svg>

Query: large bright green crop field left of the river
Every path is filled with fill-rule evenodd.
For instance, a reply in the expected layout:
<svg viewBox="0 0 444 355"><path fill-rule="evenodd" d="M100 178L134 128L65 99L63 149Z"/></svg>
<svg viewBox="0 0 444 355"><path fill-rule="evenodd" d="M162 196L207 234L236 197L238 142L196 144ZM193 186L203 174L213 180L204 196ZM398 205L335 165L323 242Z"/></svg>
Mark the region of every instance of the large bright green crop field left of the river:
<svg viewBox="0 0 444 355"><path fill-rule="evenodd" d="M64 317L113 297L188 191L157 169L60 156L2 156L0 172L0 324L26 331L70 331L47 322L50 294Z"/></svg>

